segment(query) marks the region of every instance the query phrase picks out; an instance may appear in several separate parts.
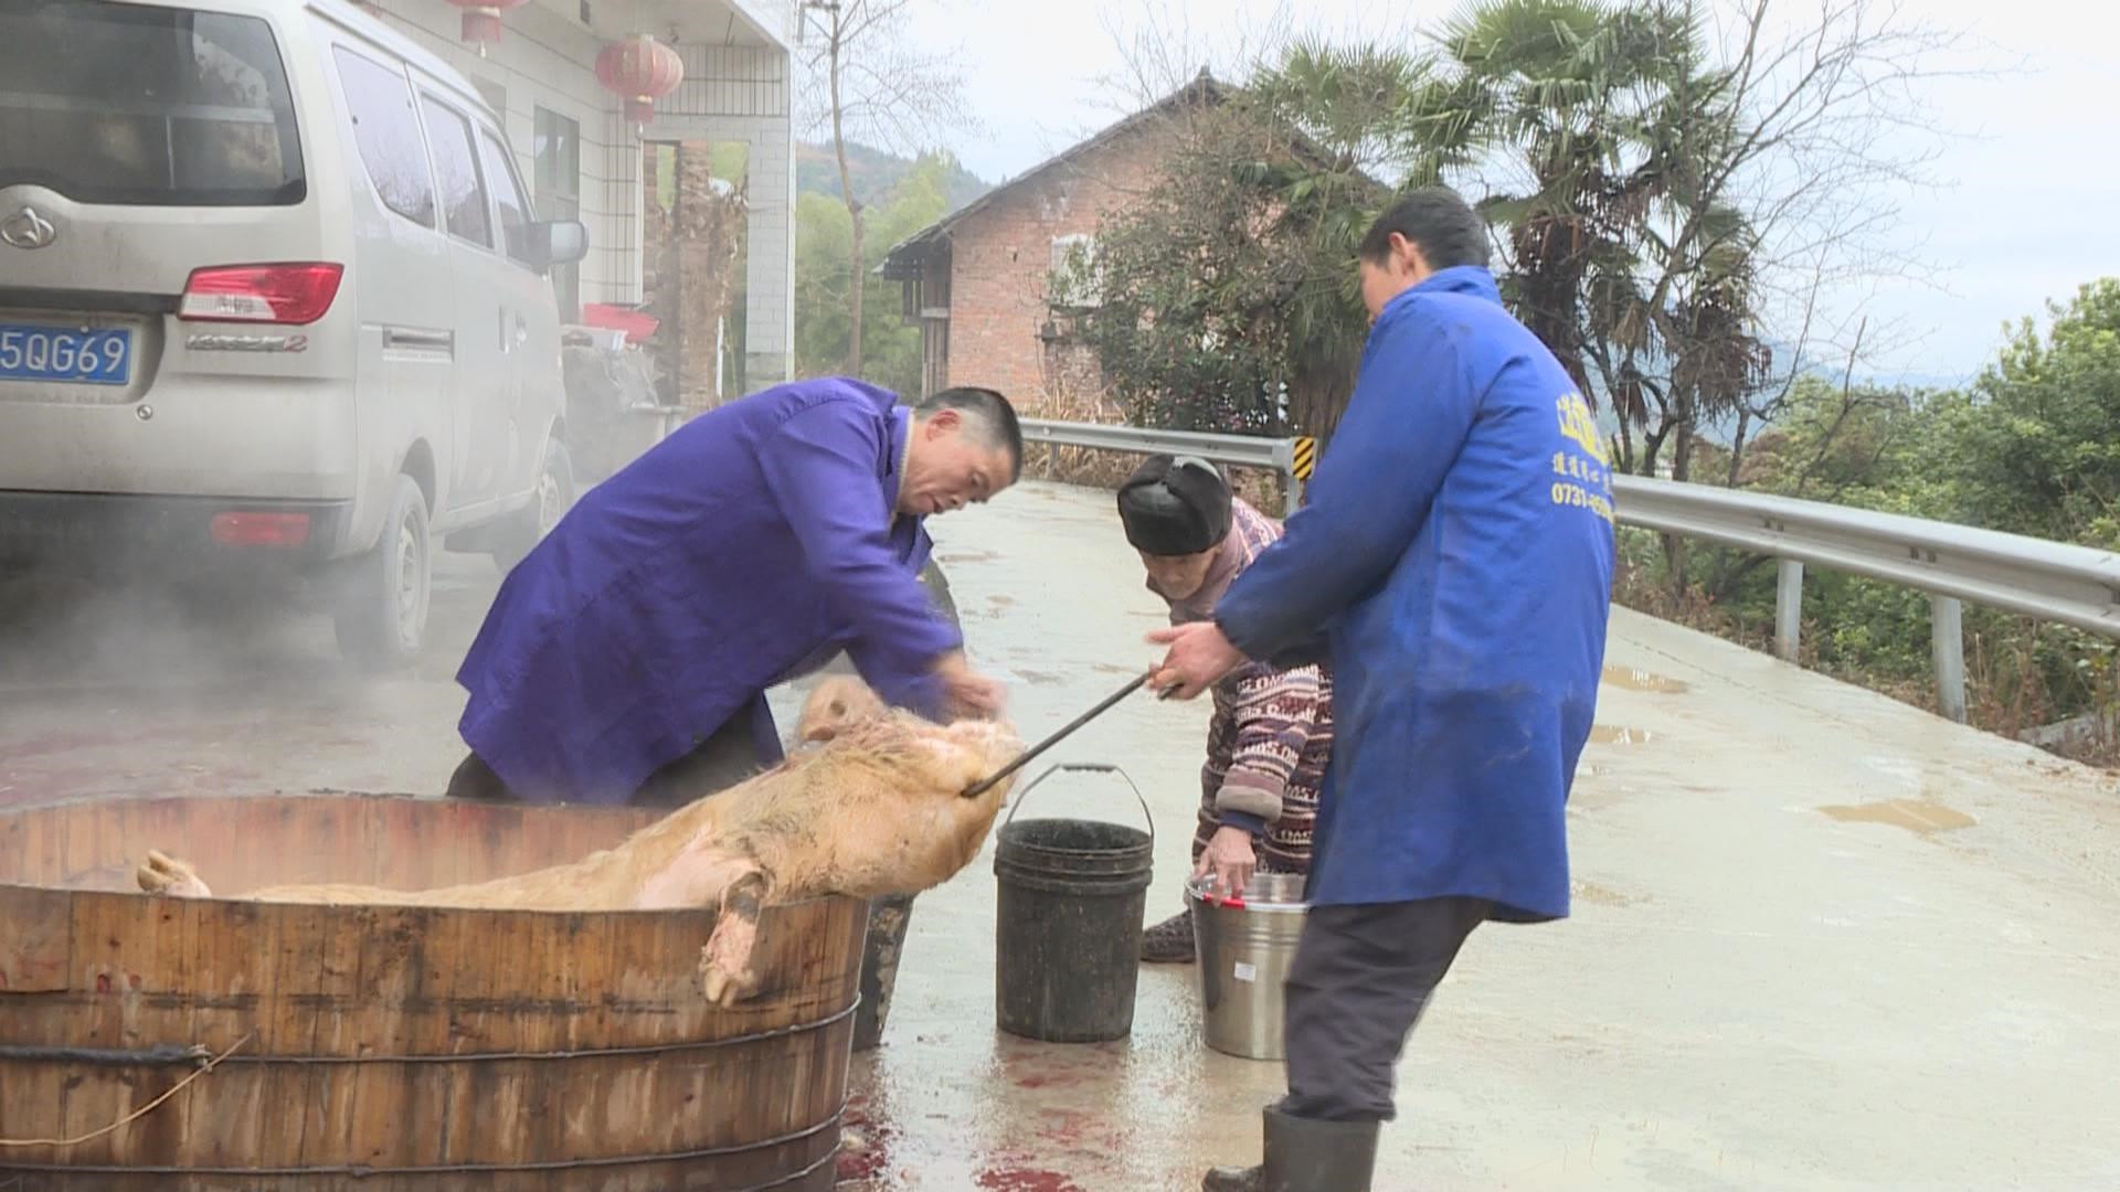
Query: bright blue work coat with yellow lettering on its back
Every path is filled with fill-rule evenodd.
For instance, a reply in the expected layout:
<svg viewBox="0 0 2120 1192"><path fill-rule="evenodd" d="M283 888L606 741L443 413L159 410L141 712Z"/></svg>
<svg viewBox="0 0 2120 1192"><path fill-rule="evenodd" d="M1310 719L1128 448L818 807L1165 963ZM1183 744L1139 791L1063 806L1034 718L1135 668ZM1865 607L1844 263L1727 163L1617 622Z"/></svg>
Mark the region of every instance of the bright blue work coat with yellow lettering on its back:
<svg viewBox="0 0 2120 1192"><path fill-rule="evenodd" d="M1569 914L1562 821L1611 602L1611 473L1486 269L1384 305L1308 503L1215 619L1251 658L1325 632L1333 755L1308 899Z"/></svg>

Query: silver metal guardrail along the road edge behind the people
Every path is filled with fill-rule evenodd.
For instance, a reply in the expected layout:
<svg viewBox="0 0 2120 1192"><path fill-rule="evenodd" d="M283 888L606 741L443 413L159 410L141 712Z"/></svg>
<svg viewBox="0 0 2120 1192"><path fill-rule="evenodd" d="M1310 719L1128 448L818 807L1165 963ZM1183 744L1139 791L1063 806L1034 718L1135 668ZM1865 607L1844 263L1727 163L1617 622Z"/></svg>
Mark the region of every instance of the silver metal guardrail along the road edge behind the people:
<svg viewBox="0 0 2120 1192"><path fill-rule="evenodd" d="M1132 454L1198 454L1221 464L1276 469L1287 477L1291 511L1302 492L1293 439L1043 420L1024 420L1024 439ZM1624 526L1774 558L1774 653L1787 662L1798 658L1806 564L1927 592L1938 702L1957 721L1965 721L1961 602L2120 638L2120 556L2112 551L1637 475L1613 475L1613 511Z"/></svg>

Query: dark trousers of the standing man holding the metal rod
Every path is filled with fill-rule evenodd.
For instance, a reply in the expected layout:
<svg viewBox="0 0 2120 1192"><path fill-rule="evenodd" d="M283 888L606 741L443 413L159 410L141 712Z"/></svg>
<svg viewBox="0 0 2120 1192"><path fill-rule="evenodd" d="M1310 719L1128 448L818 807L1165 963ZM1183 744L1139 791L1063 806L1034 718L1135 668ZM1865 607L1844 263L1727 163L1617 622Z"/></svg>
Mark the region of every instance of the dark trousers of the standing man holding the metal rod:
<svg viewBox="0 0 2120 1192"><path fill-rule="evenodd" d="M1280 1111L1393 1120L1393 1071L1406 1037L1492 906L1471 897L1312 906L1289 965L1289 1094Z"/></svg>

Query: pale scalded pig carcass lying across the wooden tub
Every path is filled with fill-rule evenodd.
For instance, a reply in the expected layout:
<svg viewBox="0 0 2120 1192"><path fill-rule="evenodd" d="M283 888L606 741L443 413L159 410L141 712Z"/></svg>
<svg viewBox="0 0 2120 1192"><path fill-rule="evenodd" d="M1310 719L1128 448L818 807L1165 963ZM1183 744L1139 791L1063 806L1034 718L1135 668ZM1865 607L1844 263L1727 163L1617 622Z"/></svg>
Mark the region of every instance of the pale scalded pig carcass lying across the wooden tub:
<svg viewBox="0 0 2120 1192"><path fill-rule="evenodd" d="M430 891L290 884L261 901L458 906L490 910L717 910L700 957L706 999L757 991L759 910L825 893L912 895L956 876L994 825L1007 789L962 791L1022 753L1007 723L937 725L888 711L859 681L812 694L799 747L780 766L695 800L581 861ZM197 870L148 851L153 895L212 897Z"/></svg>

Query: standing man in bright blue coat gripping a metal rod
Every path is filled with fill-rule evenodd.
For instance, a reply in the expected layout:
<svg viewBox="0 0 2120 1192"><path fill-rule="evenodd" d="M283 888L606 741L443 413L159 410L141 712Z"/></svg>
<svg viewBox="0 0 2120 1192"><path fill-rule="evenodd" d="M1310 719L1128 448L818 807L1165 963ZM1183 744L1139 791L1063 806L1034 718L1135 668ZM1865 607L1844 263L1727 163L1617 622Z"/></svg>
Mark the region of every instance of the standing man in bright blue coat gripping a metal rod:
<svg viewBox="0 0 2120 1192"><path fill-rule="evenodd" d="M1287 980L1266 1162L1208 1192L1370 1188L1393 1069L1486 921L1569 914L1565 808L1611 604L1611 467L1560 363L1501 305L1486 227L1401 197L1359 252L1370 341L1308 503L1215 607L1158 630L1158 687L1327 653L1336 749Z"/></svg>

